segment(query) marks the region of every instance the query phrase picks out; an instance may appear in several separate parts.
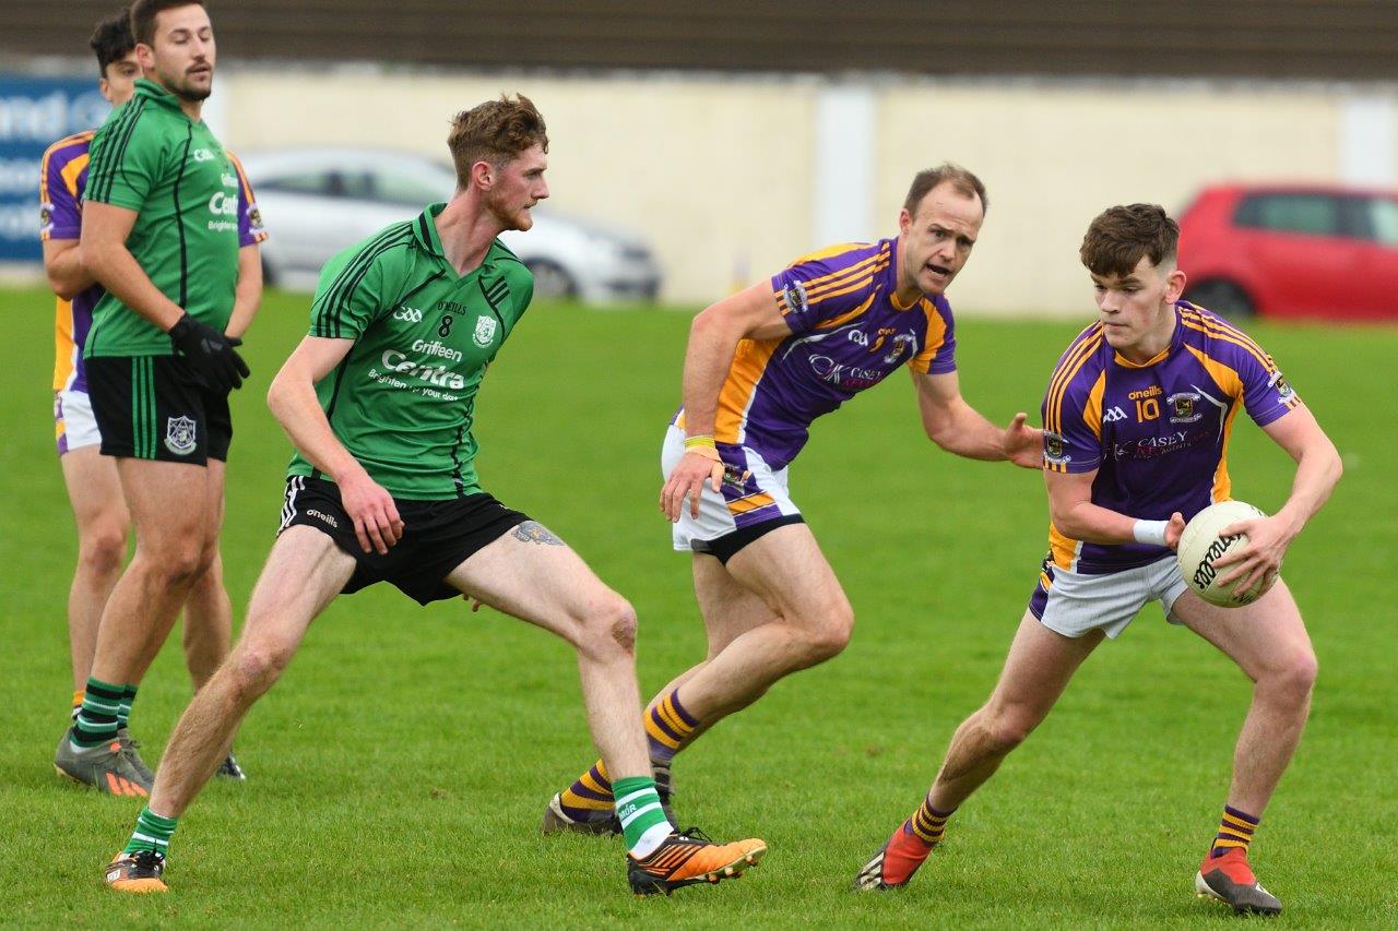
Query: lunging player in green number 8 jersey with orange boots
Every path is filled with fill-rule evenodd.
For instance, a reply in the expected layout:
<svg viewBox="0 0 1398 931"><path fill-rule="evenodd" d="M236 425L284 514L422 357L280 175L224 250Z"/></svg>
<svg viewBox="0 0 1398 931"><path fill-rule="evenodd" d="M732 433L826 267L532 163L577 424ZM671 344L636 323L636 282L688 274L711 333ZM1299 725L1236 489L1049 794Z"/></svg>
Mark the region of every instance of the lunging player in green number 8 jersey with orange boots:
<svg viewBox="0 0 1398 931"><path fill-rule="evenodd" d="M200 691L161 760L150 807L106 871L109 886L164 890L175 821L212 774L252 703L330 601L391 582L426 604L468 593L577 649L587 720L617 773L636 893L741 874L761 840L714 844L661 811L639 726L636 615L562 540L481 489L475 393L534 278L498 239L548 197L548 136L524 96L460 113L457 190L333 259L310 334L267 401L296 446L281 533L229 660Z"/></svg>

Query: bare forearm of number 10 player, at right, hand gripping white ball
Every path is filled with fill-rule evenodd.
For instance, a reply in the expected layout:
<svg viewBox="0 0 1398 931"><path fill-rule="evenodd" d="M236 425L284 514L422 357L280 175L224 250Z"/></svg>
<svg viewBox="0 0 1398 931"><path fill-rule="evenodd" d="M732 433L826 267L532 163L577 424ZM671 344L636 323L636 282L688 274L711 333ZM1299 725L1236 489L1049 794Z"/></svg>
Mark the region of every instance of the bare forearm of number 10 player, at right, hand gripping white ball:
<svg viewBox="0 0 1398 931"><path fill-rule="evenodd" d="M1335 445L1304 404L1262 431L1296 460L1296 478L1286 503L1275 514L1241 520L1220 531L1220 535L1247 534L1246 547L1213 563L1218 569L1232 568L1219 576L1218 584L1232 586L1234 580L1243 580L1237 591L1248 591L1281 570L1286 549L1329 498L1345 470Z"/></svg>

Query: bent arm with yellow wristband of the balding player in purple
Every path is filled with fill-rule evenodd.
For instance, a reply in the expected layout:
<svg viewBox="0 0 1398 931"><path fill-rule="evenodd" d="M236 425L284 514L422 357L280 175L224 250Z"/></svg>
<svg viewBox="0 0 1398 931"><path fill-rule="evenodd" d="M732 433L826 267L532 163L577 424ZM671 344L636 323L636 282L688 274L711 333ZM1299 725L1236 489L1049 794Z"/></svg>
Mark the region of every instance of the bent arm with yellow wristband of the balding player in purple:
<svg viewBox="0 0 1398 931"><path fill-rule="evenodd" d="M691 513L699 516L699 493L705 481L719 491L723 466L713 450L713 429L719 411L719 390L728 376L733 354L741 340L776 340L791 334L781 319L769 282L759 282L710 305L695 316L685 349L684 403L685 432L696 442L665 478L660 489L660 510L679 520L689 498ZM707 440L707 443L705 443Z"/></svg>

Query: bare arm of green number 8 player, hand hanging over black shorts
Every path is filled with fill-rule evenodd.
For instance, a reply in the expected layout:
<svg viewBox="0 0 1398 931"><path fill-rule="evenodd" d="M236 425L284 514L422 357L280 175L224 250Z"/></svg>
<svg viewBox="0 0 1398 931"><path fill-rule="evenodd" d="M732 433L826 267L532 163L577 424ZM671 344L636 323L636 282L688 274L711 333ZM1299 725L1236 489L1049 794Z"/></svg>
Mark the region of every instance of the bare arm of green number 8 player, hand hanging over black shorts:
<svg viewBox="0 0 1398 931"><path fill-rule="evenodd" d="M305 337L267 389L267 407L306 460L340 486L340 499L354 519L359 547L382 555L403 535L398 509L393 496L369 478L334 435L316 400L316 382L326 377L351 347L354 340Z"/></svg>

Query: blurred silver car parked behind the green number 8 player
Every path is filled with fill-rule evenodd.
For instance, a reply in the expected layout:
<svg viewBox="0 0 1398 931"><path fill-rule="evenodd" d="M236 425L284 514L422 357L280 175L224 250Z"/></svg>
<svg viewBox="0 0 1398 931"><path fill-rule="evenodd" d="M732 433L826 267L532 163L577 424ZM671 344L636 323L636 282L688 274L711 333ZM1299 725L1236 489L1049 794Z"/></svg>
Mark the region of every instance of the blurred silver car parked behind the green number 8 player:
<svg viewBox="0 0 1398 931"><path fill-rule="evenodd" d="M298 291L315 289L336 253L456 189L449 165L391 150L285 148L242 161L271 232L261 247L267 284ZM660 291L654 256L632 236L535 210L533 229L500 239L534 273L535 296L611 303Z"/></svg>

